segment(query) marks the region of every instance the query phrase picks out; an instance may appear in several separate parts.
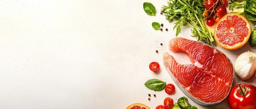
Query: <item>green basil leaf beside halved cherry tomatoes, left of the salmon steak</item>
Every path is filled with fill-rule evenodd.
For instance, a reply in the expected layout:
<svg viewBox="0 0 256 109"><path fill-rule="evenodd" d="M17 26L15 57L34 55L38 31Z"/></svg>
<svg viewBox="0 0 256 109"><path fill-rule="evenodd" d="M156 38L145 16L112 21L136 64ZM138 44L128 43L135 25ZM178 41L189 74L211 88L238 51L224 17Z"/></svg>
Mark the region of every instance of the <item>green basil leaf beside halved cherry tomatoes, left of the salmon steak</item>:
<svg viewBox="0 0 256 109"><path fill-rule="evenodd" d="M156 90L156 91L161 91L165 88L166 82L163 82L159 79L149 79L147 82L144 84L148 89Z"/></svg>

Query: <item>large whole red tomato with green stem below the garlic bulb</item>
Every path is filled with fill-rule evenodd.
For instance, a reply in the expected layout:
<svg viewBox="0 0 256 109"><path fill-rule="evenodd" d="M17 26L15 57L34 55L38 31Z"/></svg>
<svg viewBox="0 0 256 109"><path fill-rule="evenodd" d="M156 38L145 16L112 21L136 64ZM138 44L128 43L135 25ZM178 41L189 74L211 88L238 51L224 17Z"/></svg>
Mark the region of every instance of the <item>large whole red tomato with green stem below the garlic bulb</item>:
<svg viewBox="0 0 256 109"><path fill-rule="evenodd" d="M241 89L249 89L245 95L239 94L241 91L240 84L234 86L228 96L228 104L230 109L256 109L256 87L251 84L242 84Z"/></svg>

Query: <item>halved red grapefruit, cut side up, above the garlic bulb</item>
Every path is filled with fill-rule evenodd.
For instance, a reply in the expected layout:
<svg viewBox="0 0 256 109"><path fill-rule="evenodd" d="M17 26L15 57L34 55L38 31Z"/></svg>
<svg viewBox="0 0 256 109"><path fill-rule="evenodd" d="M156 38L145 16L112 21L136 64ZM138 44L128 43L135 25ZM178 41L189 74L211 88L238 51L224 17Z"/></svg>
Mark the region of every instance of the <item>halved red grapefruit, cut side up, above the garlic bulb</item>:
<svg viewBox="0 0 256 109"><path fill-rule="evenodd" d="M236 50L246 44L251 35L251 26L246 18L239 14L224 15L216 24L214 39L227 50Z"/></svg>

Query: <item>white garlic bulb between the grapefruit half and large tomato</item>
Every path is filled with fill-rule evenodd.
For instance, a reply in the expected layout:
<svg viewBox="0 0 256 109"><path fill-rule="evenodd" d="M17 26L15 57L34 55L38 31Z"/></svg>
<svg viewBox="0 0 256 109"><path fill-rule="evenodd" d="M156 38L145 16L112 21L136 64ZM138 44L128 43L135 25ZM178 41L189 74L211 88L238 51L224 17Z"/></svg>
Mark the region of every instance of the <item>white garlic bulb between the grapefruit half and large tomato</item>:
<svg viewBox="0 0 256 109"><path fill-rule="evenodd" d="M240 54L235 60L234 71L240 79L250 79L256 71L256 53L248 51Z"/></svg>

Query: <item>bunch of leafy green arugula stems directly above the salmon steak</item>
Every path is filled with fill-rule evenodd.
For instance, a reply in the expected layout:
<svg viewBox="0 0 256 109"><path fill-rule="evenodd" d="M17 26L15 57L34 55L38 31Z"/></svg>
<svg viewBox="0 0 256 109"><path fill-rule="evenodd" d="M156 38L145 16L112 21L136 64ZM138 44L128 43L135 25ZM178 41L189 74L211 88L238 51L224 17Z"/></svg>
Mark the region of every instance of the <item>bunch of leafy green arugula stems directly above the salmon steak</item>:
<svg viewBox="0 0 256 109"><path fill-rule="evenodd" d="M168 5L163 5L161 11L165 13L169 22L176 20L174 23L176 36L180 34L182 26L189 25L193 27L191 36L208 45L214 45L212 30L203 22L204 10L205 5L201 0L169 0Z"/></svg>

